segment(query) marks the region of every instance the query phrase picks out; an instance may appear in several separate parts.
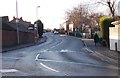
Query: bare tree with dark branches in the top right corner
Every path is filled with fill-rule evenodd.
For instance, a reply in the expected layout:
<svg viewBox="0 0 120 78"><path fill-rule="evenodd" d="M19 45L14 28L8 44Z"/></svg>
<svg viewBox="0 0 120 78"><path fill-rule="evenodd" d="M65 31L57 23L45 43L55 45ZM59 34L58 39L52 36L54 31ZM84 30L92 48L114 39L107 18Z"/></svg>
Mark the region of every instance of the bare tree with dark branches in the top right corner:
<svg viewBox="0 0 120 78"><path fill-rule="evenodd" d="M101 0L98 3L102 5L106 5L109 8L112 17L114 17L115 16L115 2L116 0Z"/></svg>

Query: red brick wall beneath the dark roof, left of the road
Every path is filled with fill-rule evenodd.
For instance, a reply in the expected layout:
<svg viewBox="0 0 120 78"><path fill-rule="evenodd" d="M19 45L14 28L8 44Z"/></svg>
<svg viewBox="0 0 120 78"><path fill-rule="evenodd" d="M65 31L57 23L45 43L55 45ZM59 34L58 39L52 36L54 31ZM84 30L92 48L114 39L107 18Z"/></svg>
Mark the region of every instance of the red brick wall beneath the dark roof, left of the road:
<svg viewBox="0 0 120 78"><path fill-rule="evenodd" d="M19 32L20 44L34 42L32 32ZM2 48L8 48L17 45L17 32L2 30Z"/></svg>

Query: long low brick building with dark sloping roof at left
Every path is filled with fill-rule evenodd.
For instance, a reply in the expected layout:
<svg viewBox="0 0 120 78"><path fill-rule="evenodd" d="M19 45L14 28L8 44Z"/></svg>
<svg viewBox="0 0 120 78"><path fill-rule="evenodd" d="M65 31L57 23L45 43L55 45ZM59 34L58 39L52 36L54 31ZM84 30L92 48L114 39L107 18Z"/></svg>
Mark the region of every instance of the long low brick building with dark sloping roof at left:
<svg viewBox="0 0 120 78"><path fill-rule="evenodd" d="M17 44L17 26L15 22L10 22L8 16L0 17L2 26L2 49L18 45ZM19 23L19 40L20 44L34 42L34 33L27 28L27 25Z"/></svg>

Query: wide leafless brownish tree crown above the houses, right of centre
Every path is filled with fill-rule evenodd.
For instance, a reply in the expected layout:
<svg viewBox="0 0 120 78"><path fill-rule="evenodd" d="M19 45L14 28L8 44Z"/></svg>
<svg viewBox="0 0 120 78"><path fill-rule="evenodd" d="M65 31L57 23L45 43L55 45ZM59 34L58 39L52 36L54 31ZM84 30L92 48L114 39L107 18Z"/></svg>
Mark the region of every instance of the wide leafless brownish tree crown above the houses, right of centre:
<svg viewBox="0 0 120 78"><path fill-rule="evenodd" d="M94 30L94 28L99 28L95 26L99 25L99 18L102 16L101 13L91 11L89 5L78 5L78 7L74 7L73 10L68 10L66 14L67 20L72 21L74 28L78 28L81 32L86 31L84 25L89 25L91 31Z"/></svg>

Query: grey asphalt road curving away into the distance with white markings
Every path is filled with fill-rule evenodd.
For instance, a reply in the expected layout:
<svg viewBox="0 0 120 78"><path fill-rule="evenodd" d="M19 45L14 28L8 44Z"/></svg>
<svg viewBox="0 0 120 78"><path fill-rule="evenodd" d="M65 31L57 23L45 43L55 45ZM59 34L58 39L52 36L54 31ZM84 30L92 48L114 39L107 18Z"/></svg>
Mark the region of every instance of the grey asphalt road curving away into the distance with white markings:
<svg viewBox="0 0 120 78"><path fill-rule="evenodd" d="M45 33L45 43L2 53L3 76L118 76L78 38Z"/></svg>

